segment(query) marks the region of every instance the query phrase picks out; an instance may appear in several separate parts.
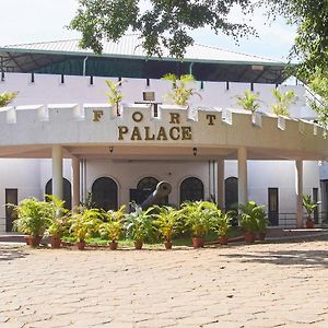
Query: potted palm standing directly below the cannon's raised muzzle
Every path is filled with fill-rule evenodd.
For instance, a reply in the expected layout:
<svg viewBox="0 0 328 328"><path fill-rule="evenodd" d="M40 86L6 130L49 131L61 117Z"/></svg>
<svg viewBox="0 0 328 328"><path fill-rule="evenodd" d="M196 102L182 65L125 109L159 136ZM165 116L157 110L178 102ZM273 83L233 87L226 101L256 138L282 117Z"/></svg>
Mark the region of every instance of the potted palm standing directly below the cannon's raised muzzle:
<svg viewBox="0 0 328 328"><path fill-rule="evenodd" d="M154 207L156 213L154 224L157 227L157 232L164 238L164 246L166 249L172 248L172 237L181 229L181 215L180 211L173 207L163 206Z"/></svg>

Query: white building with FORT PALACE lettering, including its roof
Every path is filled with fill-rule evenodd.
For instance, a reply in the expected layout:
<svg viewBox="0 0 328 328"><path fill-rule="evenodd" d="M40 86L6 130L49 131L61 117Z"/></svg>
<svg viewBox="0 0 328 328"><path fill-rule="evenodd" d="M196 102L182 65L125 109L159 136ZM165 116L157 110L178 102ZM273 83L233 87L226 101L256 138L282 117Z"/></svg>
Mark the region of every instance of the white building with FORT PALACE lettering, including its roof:
<svg viewBox="0 0 328 328"><path fill-rule="evenodd" d="M318 161L327 159L328 141L307 120L314 113L306 89L280 84L283 63L198 45L183 63L160 61L137 43L127 36L107 44L102 57L74 42L0 49L0 93L19 92L0 112L2 204L54 190L69 206L92 192L98 206L117 208L166 180L168 203L213 199L229 209L251 199L266 206L272 225L302 225L302 194L323 199L327 211ZM124 81L119 115L106 104L110 70ZM194 95L189 108L165 104L172 85L156 78L167 72L192 72L201 97ZM291 118L269 113L274 87L295 91ZM255 116L236 105L245 90L260 95ZM11 213L0 211L0 232L10 231Z"/></svg>

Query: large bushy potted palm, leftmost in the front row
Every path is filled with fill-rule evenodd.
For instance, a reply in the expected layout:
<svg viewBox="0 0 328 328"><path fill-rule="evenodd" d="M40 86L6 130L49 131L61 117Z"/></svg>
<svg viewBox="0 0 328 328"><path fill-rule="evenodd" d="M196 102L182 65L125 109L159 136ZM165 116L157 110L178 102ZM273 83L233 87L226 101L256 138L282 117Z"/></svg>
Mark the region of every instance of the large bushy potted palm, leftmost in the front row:
<svg viewBox="0 0 328 328"><path fill-rule="evenodd" d="M12 206L17 213L13 227L26 234L26 244L33 247L39 245L40 239L50 225L51 209L48 202L36 198L23 199L17 206Z"/></svg>

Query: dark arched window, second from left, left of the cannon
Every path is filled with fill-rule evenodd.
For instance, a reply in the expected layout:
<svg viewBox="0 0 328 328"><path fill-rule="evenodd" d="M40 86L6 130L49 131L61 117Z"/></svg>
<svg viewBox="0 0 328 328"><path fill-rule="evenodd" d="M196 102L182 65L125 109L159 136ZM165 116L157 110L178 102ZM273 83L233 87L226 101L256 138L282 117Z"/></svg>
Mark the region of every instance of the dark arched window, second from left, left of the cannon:
<svg viewBox="0 0 328 328"><path fill-rule="evenodd" d="M97 178L91 188L92 201L95 203L96 208L108 210L117 210L117 184L114 179L109 177Z"/></svg>

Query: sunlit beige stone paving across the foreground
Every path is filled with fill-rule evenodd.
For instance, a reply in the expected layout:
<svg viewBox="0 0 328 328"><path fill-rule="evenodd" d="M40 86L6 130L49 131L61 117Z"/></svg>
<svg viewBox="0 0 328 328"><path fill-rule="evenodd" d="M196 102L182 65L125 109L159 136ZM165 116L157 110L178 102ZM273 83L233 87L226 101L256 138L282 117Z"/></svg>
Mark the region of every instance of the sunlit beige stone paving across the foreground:
<svg viewBox="0 0 328 328"><path fill-rule="evenodd" d="M173 250L0 246L0 327L328 327L328 241Z"/></svg>

